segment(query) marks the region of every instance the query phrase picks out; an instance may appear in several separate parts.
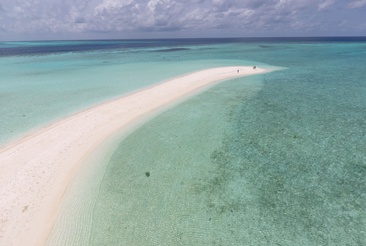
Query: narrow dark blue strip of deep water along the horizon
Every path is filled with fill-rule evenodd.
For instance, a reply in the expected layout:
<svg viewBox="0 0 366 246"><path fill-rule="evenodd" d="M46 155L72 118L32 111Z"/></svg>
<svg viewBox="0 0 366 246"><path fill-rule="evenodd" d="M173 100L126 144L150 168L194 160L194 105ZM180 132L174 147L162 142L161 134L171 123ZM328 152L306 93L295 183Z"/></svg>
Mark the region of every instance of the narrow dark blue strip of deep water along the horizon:
<svg viewBox="0 0 366 246"><path fill-rule="evenodd" d="M219 45L240 43L332 43L366 42L366 37L283 37L283 38L192 38L147 40L80 40L80 41L29 41L0 42L1 56L44 55L63 52L95 50L175 47L190 45Z"/></svg>

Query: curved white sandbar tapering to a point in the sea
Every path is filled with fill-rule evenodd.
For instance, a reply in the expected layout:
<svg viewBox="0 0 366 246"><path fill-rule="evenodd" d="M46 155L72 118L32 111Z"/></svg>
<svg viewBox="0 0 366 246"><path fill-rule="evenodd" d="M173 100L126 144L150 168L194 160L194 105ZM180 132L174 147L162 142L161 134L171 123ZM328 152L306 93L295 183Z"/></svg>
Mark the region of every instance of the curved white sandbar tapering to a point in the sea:
<svg viewBox="0 0 366 246"><path fill-rule="evenodd" d="M252 67L195 72L65 118L0 149L0 245L43 245L73 174L113 134L208 85L264 72Z"/></svg>

